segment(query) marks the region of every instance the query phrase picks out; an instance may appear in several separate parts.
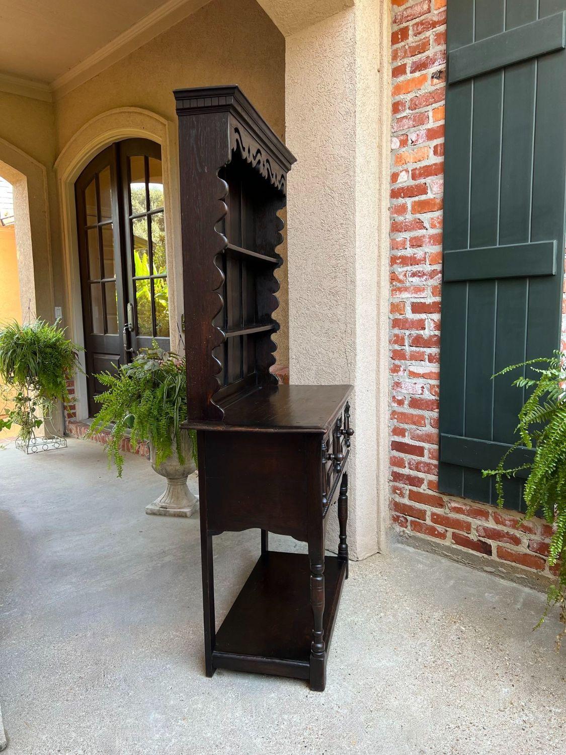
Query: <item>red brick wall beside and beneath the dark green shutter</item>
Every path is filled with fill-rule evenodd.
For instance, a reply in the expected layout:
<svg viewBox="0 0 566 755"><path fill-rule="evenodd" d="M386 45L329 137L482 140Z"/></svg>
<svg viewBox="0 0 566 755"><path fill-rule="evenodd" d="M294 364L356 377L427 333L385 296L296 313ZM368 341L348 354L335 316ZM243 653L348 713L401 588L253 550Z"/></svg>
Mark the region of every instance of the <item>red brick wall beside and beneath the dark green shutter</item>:
<svg viewBox="0 0 566 755"><path fill-rule="evenodd" d="M391 511L459 556L546 572L542 521L438 494L446 0L392 0Z"/></svg>

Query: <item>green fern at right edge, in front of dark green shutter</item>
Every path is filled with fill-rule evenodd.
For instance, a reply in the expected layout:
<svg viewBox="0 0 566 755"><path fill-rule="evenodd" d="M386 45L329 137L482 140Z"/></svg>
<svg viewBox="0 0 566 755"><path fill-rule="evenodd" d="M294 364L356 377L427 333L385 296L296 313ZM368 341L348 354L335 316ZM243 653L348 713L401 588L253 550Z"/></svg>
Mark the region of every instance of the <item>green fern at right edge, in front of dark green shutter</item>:
<svg viewBox="0 0 566 755"><path fill-rule="evenodd" d="M497 503L503 506L503 479L514 477L520 470L530 470L524 484L527 504L524 519L531 519L542 511L553 528L549 565L558 564L558 576L555 584L549 587L546 611L537 626L543 623L552 606L559 606L560 620L564 623L564 630L557 638L559 647L566 634L566 354L555 351L550 358L511 365L494 377L518 368L523 369L523 374L513 381L513 385L528 393L518 414L518 439L500 459L497 469L484 470L483 475L495 477ZM533 377L527 376L527 368ZM533 461L508 467L509 455L520 445L534 448Z"/></svg>

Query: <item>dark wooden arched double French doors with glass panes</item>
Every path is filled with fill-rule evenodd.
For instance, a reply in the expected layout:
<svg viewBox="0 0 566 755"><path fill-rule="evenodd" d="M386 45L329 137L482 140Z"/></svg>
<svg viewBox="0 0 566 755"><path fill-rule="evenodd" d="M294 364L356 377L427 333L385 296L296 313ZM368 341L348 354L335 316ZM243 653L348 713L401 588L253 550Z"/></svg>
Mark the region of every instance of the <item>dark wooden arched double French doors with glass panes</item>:
<svg viewBox="0 0 566 755"><path fill-rule="evenodd" d="M161 148L146 139L106 147L75 183L88 411L113 371L142 348L169 348Z"/></svg>

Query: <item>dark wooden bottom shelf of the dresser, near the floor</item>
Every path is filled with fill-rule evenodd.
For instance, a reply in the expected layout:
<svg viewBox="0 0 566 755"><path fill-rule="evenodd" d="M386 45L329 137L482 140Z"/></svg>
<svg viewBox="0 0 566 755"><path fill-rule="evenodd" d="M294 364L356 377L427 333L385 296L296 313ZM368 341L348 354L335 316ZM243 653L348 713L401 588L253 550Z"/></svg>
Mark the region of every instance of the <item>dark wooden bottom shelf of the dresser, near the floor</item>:
<svg viewBox="0 0 566 755"><path fill-rule="evenodd" d="M325 557L324 639L331 643L346 561ZM309 679L312 609L309 557L263 553L217 631L215 668Z"/></svg>

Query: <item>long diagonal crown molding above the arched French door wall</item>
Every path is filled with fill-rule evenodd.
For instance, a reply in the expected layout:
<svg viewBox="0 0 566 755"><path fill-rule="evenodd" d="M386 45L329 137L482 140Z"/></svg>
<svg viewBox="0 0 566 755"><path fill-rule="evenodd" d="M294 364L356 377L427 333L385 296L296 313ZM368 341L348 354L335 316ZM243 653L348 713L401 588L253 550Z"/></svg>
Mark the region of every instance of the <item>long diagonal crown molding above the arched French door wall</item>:
<svg viewBox="0 0 566 755"><path fill-rule="evenodd" d="M190 16L211 0L168 0L155 11L144 16L134 26L126 29L112 42L100 48L66 71L51 84L53 96L58 99L76 87L92 79L104 69L129 55L141 45L165 32L171 26Z"/></svg>

